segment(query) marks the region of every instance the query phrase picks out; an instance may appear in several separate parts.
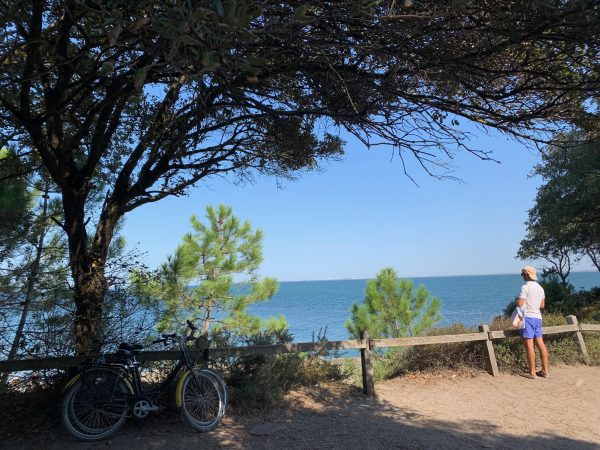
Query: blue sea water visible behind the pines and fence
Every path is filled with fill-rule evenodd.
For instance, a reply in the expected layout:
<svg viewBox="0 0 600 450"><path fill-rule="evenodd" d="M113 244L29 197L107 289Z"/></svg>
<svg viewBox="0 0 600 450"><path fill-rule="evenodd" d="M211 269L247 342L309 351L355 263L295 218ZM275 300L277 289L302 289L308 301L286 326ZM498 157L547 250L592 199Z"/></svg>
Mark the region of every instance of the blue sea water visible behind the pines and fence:
<svg viewBox="0 0 600 450"><path fill-rule="evenodd" d="M514 300L523 283L518 275L468 275L412 278L415 287L424 285L441 301L440 326L490 323ZM600 286L600 272L575 272L569 281L577 290ZM361 303L367 280L288 281L269 301L252 305L250 312L261 317L283 314L295 342L310 342L327 328L327 339L349 338L344 327L353 303ZM552 299L547 299L551 302Z"/></svg>

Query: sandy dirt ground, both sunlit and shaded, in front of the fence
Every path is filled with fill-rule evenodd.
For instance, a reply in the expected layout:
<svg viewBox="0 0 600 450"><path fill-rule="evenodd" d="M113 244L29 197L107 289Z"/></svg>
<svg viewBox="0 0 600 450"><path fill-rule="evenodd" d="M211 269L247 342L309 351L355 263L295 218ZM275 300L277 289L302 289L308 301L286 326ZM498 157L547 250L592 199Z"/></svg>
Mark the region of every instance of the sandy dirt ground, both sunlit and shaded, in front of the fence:
<svg viewBox="0 0 600 450"><path fill-rule="evenodd" d="M547 379L450 372L377 385L294 392L285 409L228 417L207 434L175 415L129 421L109 441L79 443L57 429L1 448L65 449L600 449L600 367L556 367Z"/></svg>

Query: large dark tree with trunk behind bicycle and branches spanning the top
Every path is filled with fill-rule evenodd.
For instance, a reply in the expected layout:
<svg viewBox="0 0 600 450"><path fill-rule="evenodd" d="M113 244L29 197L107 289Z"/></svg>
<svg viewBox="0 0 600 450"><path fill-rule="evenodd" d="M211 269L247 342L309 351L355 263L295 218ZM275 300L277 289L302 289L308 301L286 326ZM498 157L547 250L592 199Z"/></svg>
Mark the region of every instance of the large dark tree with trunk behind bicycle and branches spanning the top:
<svg viewBox="0 0 600 450"><path fill-rule="evenodd" d="M0 146L61 193L82 352L128 211L313 168L340 129L438 173L454 149L489 157L461 121L540 139L600 87L584 0L29 0L0 24Z"/></svg>

